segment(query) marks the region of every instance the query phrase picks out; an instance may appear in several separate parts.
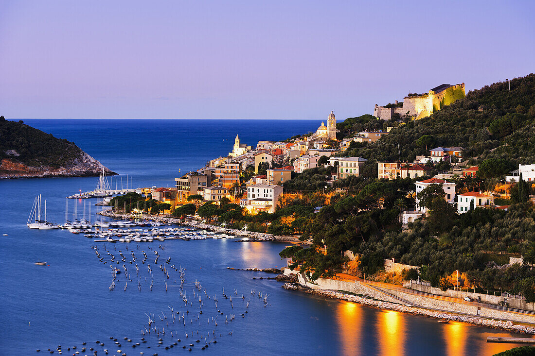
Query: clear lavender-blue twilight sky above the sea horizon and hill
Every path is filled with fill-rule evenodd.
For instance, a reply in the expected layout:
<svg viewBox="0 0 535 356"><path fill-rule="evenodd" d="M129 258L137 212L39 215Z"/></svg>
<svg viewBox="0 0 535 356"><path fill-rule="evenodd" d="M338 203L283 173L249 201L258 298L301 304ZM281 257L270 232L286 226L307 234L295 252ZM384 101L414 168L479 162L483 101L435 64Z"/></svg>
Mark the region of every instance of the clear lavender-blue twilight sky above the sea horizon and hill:
<svg viewBox="0 0 535 356"><path fill-rule="evenodd" d="M533 1L0 1L0 115L337 119L535 72Z"/></svg>

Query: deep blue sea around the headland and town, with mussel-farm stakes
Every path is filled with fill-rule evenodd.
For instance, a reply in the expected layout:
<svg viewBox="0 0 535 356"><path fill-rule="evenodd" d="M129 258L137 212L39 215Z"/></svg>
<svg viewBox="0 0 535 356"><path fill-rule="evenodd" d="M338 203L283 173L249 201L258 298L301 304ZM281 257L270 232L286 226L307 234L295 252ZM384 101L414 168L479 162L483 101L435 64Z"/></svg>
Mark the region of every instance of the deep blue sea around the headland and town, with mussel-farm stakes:
<svg viewBox="0 0 535 356"><path fill-rule="evenodd" d="M321 120L24 121L73 141L117 172L110 178L114 186L126 188L128 176L128 187L143 188L173 187L175 177L231 152L236 135L256 146L315 131ZM67 230L27 228L37 195L43 210L47 201L48 220L63 223L66 214L98 219L96 199L66 199L94 189L97 180L0 181L0 355L60 349L68 355L454 356L518 346L486 343L487 336L515 336L502 330L320 298L281 288L267 279L273 274L227 268L280 268L286 243L112 244ZM122 271L116 281L111 265Z"/></svg>

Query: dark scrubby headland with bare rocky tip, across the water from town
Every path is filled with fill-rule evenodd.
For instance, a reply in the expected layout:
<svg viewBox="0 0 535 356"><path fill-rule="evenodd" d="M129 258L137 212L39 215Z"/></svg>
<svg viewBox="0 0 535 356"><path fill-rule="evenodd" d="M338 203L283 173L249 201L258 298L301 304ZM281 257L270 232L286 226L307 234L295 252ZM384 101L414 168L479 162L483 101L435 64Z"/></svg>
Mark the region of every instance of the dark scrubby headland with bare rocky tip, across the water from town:
<svg viewBox="0 0 535 356"><path fill-rule="evenodd" d="M0 178L95 176L104 167L73 142L0 117ZM104 171L113 174L104 167Z"/></svg>

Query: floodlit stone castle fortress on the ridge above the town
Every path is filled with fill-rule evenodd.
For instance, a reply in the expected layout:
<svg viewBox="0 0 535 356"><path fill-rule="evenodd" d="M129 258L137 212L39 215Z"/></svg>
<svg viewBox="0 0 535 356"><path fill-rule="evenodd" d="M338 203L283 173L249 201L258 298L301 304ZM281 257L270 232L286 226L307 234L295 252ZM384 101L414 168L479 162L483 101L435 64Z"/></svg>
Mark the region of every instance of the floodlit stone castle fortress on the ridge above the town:
<svg viewBox="0 0 535 356"><path fill-rule="evenodd" d="M442 107L455 103L455 100L464 98L464 83L442 84L424 94L409 94L403 98L402 103L395 101L395 104L379 106L375 104L373 116L383 120L389 120L394 113L401 116L408 115L416 119L425 118L433 112L437 112Z"/></svg>

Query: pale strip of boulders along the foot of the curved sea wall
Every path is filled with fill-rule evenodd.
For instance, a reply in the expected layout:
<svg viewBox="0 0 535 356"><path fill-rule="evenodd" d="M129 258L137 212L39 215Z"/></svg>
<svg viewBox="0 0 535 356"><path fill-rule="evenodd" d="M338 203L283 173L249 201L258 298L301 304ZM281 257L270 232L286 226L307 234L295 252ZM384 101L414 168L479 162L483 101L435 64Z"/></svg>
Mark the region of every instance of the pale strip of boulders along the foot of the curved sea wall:
<svg viewBox="0 0 535 356"><path fill-rule="evenodd" d="M491 327L494 329L502 329L502 330L507 330L507 331L518 332L520 334L529 334L529 335L535 334L535 326L514 324L510 320L503 321L503 320L496 320L496 319L488 319L488 318L484 318L481 316L467 315L467 314L461 314L461 313L456 314L456 313L442 312L442 311L419 308L419 307L406 306L403 304L392 303L390 301L373 299L371 297L368 297L368 298L361 297L354 293L349 293L345 291L334 291L334 290L327 290L327 289L310 289L299 283L287 282L282 285L282 288L288 289L288 290L303 291L305 293L322 296L325 298L350 301L353 303L375 307L378 309L391 310L391 311L396 311L396 312L406 313L406 314L422 315L428 318L442 319L442 320L446 320L446 323L451 320L451 321L459 321L459 322L464 322L464 323L469 323L469 324L475 324L479 326Z"/></svg>

